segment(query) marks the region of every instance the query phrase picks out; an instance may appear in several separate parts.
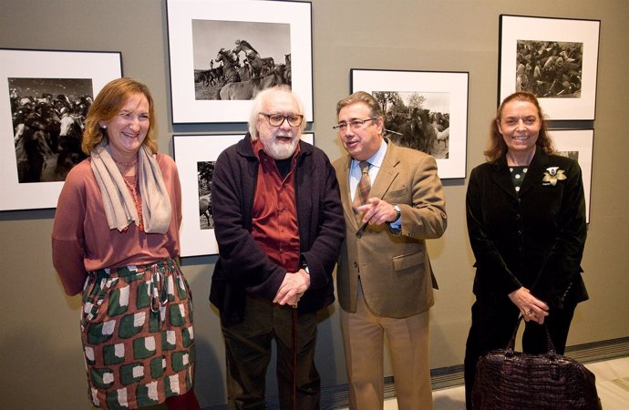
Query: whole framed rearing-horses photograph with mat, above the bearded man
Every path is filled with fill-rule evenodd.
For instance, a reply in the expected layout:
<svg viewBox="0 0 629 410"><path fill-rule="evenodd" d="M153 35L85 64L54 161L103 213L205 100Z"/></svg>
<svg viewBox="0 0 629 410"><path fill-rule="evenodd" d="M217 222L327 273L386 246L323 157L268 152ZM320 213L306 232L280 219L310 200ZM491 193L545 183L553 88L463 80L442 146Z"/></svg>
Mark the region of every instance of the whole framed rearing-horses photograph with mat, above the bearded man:
<svg viewBox="0 0 629 410"><path fill-rule="evenodd" d="M293 88L313 121L311 8L168 0L172 122L247 122L253 97L278 84Z"/></svg>

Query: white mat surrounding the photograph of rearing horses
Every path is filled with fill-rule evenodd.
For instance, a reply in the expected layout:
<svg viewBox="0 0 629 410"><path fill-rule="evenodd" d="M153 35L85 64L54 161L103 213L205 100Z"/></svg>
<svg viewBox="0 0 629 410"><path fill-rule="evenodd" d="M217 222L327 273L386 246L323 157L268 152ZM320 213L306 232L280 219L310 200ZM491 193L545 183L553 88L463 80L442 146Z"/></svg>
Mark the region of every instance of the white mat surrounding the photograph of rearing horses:
<svg viewBox="0 0 629 410"><path fill-rule="evenodd" d="M170 98L172 122L247 122L253 100L196 100L192 20L280 23L290 25L292 87L304 104L306 121L313 115L311 4L252 0L168 0ZM246 36L243 33L242 36ZM249 41L254 42L254 38ZM234 46L233 39L224 45ZM215 50L213 55L216 55ZM278 63L278 62L276 62Z"/></svg>

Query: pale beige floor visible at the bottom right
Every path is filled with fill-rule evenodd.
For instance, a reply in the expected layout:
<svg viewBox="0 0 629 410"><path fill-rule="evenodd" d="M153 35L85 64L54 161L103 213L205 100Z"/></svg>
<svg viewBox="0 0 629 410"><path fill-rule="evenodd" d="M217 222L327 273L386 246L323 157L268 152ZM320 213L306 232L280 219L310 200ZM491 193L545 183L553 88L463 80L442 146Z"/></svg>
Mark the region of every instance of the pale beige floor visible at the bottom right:
<svg viewBox="0 0 629 410"><path fill-rule="evenodd" d="M585 364L596 375L596 390L604 410L629 409L629 357ZM465 410L463 386L433 392L433 410ZM396 399L385 402L385 410L397 410Z"/></svg>

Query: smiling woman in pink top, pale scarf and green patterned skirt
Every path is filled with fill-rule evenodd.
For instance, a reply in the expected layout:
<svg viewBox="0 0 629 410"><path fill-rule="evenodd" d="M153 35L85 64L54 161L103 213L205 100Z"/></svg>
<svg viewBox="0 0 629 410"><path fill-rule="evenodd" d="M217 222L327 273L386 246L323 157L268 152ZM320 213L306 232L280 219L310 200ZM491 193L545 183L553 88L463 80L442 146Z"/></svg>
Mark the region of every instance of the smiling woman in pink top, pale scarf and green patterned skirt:
<svg viewBox="0 0 629 410"><path fill-rule="evenodd" d="M52 233L68 295L82 292L89 399L99 408L199 409L191 293L180 254L181 192L157 152L149 89L109 82L85 121L89 155L67 175Z"/></svg>

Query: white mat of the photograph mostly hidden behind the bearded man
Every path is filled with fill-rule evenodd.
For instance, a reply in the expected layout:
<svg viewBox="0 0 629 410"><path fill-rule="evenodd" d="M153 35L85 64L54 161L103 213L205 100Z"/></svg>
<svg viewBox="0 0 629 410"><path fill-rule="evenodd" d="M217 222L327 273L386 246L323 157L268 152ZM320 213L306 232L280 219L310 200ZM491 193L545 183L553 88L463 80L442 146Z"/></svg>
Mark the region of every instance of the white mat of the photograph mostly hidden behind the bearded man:
<svg viewBox="0 0 629 410"><path fill-rule="evenodd" d="M175 162L181 181L180 256L211 255L219 252L213 229L201 229L199 212L199 176L197 163L216 161L224 149L231 147L244 134L174 135ZM302 139L314 144L314 133Z"/></svg>

